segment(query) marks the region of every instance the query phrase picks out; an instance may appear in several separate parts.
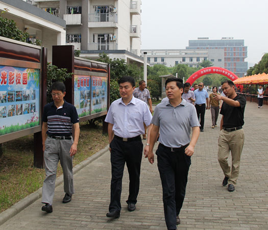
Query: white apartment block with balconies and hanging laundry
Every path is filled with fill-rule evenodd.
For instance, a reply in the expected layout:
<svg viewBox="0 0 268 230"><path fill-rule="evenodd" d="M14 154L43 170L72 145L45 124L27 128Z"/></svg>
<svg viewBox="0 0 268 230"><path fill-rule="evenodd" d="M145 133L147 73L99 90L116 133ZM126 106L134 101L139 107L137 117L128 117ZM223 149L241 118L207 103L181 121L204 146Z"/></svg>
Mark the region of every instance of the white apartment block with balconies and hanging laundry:
<svg viewBox="0 0 268 230"><path fill-rule="evenodd" d="M66 20L66 44L81 57L99 53L143 63L140 57L140 7L136 0L35 0L37 7Z"/></svg>

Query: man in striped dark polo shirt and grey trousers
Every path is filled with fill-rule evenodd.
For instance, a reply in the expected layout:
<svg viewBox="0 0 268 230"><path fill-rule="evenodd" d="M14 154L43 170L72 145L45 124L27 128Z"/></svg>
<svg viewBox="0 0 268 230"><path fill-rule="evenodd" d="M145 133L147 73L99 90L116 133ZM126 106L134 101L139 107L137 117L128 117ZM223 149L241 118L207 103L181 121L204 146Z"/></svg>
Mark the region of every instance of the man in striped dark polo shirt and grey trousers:
<svg viewBox="0 0 268 230"><path fill-rule="evenodd" d="M64 192L63 203L71 201L74 194L72 159L77 153L80 134L79 118L75 106L67 103L65 85L55 82L51 86L53 102L45 105L42 124L42 144L45 163L45 180L43 183L42 211L51 213L55 190L57 166L60 160L63 170ZM72 138L74 126L74 139Z"/></svg>

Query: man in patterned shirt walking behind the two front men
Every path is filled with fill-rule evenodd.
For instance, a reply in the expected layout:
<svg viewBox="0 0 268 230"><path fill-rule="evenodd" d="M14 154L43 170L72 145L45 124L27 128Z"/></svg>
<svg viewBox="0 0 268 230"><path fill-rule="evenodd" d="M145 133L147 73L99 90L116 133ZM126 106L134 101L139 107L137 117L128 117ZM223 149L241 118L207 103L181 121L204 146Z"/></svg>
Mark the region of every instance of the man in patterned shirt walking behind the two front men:
<svg viewBox="0 0 268 230"><path fill-rule="evenodd" d="M149 104L150 112L153 113L152 99L149 90L146 88L145 81L141 80L139 82L139 87L134 89L133 96L144 101L146 104ZM145 124L143 124L143 126L144 126L144 134L142 134L142 138L143 140L146 140L147 126Z"/></svg>

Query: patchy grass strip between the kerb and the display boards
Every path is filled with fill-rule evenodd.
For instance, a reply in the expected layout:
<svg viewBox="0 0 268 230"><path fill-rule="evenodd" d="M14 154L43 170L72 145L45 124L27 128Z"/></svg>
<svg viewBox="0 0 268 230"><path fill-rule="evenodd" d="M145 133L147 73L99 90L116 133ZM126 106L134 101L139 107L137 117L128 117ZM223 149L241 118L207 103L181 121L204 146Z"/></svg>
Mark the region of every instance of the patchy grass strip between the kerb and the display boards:
<svg viewBox="0 0 268 230"><path fill-rule="evenodd" d="M92 128L85 121L80 123L80 130L74 166L109 143L108 136L102 135L102 126ZM33 135L4 143L4 154L0 158L0 213L43 186L45 170L33 166L33 146ZM59 163L57 176L61 174Z"/></svg>

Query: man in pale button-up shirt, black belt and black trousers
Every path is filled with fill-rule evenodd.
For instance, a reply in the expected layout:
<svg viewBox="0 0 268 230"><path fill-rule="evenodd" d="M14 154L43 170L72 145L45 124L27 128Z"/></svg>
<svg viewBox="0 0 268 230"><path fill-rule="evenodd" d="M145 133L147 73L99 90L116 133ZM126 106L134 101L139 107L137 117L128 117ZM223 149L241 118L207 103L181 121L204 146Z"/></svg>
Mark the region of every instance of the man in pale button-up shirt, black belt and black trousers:
<svg viewBox="0 0 268 230"><path fill-rule="evenodd" d="M134 79L131 76L124 76L119 79L118 83L121 98L113 101L105 118L105 121L109 123L108 135L112 165L111 200L109 213L106 216L112 218L120 216L125 163L127 163L130 179L128 210L131 212L136 209L143 149L140 135L144 134L144 122L149 128L148 141L144 148L144 155L147 157L152 120L147 104L132 95L135 89Z"/></svg>

